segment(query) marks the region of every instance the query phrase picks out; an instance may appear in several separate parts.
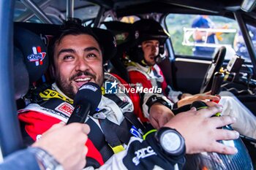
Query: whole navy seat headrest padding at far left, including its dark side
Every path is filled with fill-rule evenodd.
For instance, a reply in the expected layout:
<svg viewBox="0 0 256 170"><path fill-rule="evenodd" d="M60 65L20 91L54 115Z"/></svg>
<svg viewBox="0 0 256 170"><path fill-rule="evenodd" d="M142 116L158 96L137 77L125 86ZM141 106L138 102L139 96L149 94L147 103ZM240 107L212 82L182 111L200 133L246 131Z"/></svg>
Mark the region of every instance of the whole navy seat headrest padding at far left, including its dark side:
<svg viewBox="0 0 256 170"><path fill-rule="evenodd" d="M48 69L48 55L42 39L34 32L14 28L15 99L29 90L29 85L39 80Z"/></svg>

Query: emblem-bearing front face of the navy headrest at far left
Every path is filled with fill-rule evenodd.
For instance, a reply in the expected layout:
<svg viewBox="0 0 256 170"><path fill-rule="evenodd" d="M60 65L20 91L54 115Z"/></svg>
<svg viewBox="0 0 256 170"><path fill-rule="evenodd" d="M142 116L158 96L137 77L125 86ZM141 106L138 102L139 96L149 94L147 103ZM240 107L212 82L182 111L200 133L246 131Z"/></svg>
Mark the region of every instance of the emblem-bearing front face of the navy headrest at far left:
<svg viewBox="0 0 256 170"><path fill-rule="evenodd" d="M14 29L14 44L23 56L29 83L36 82L48 69L49 58L45 44L37 34L21 27Z"/></svg>

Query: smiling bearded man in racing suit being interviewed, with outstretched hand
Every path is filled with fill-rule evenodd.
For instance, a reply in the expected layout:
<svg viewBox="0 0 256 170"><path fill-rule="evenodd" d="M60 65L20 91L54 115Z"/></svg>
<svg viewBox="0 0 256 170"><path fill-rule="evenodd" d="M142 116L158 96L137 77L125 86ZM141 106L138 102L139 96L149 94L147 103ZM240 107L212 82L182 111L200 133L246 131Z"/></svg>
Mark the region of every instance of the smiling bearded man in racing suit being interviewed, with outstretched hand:
<svg viewBox="0 0 256 170"><path fill-rule="evenodd" d="M112 53L110 49L115 46L113 36L108 39L108 34L108 31L97 28L70 26L52 39L49 53L53 58L56 82L36 89L32 93L32 103L19 111L26 139L37 140L51 125L67 122L74 109L72 98L84 83L95 82L102 89L108 88L108 83L103 83L105 77L105 82L121 86L123 80L103 74L103 55L107 59ZM132 98L136 100L136 96ZM172 113L170 107L166 107L169 101L161 95L148 95L144 99L148 112ZM237 152L235 147L217 142L219 139L238 138L236 131L217 128L236 122L229 116L222 119L211 117L222 111L217 104L200 111L193 107L188 112L182 112L158 131L152 128L146 131L138 122L132 113L139 109L136 106L139 105L132 104L125 91L102 96L96 111L90 113L86 120L91 128L86 142L89 148L86 169L177 169L184 163L185 152ZM188 126L184 127L184 124ZM203 131L199 130L202 128ZM176 137L170 137L172 134ZM163 137L167 138L167 143L162 140ZM198 139L201 139L200 144ZM75 150L75 146L67 147Z"/></svg>

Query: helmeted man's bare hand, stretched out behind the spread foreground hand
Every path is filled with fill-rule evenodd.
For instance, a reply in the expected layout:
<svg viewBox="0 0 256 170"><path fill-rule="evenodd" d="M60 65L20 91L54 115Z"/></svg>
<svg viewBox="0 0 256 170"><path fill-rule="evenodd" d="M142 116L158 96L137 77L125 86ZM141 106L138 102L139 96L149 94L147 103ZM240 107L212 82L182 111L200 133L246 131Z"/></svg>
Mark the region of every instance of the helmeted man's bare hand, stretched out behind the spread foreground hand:
<svg viewBox="0 0 256 170"><path fill-rule="evenodd" d="M203 94L196 94L193 96L185 96L181 100L177 102L178 107L182 107L187 104L192 104L193 101L205 101L212 100L212 101L219 101L219 96L210 95L211 92L203 93Z"/></svg>

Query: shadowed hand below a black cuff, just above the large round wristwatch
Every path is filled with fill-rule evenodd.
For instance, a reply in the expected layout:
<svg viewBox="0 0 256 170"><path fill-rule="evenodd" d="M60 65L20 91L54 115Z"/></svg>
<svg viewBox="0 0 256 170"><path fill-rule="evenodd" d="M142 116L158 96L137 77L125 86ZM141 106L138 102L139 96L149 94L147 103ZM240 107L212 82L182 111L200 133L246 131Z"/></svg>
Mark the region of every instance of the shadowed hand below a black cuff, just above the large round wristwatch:
<svg viewBox="0 0 256 170"><path fill-rule="evenodd" d="M161 128L165 125L171 118L174 117L173 112L164 105L160 103L155 103L151 106L149 110L149 121L154 128Z"/></svg>

